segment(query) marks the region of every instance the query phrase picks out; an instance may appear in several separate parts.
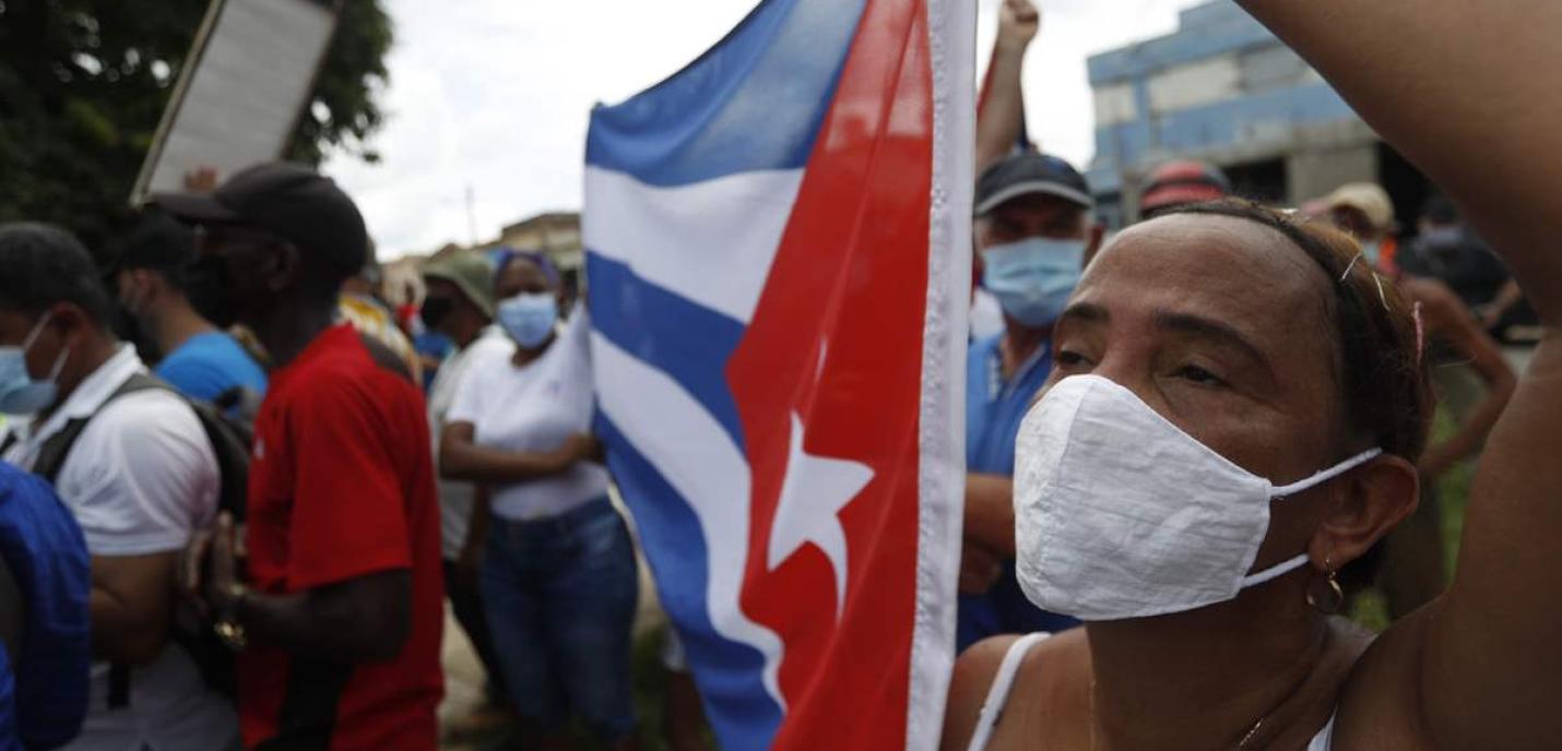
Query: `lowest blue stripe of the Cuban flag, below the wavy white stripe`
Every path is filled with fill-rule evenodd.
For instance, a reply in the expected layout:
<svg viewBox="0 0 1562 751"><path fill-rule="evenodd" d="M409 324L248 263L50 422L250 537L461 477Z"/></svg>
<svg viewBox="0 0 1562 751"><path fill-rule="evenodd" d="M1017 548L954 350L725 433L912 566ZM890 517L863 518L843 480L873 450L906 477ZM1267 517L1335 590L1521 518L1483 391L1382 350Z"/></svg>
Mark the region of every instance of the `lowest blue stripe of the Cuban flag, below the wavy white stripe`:
<svg viewBox="0 0 1562 751"><path fill-rule="evenodd" d="M711 625L709 551L698 517L608 415L597 414L594 431L612 447L608 465L634 514L642 548L656 551L650 556L656 590L679 625L715 735L731 749L770 748L781 726L781 707L765 692L764 656L720 637Z"/></svg>

